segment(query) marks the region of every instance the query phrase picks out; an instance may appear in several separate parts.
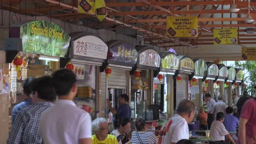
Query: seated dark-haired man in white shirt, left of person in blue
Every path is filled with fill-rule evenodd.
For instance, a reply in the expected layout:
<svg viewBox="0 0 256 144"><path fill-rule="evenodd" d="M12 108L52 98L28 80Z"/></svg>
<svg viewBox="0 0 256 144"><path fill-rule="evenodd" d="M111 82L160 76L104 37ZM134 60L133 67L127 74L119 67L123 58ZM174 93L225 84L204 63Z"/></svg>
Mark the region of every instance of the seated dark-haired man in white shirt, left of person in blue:
<svg viewBox="0 0 256 144"><path fill-rule="evenodd" d="M224 113L218 112L216 115L216 121L212 122L212 126L210 129L210 137L213 137L213 140L210 141L210 144L226 144L225 136L235 144L236 142L232 139L229 132L224 127Z"/></svg>

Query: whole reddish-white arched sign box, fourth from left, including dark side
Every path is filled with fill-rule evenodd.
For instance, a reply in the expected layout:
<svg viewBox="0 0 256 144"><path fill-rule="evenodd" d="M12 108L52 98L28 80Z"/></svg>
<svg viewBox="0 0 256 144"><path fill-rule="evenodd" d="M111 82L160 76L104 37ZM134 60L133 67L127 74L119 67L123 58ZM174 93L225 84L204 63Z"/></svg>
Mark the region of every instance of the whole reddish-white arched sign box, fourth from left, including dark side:
<svg viewBox="0 0 256 144"><path fill-rule="evenodd" d="M131 74L135 73L136 69L159 69L161 57L157 51L149 46L137 46L136 50L138 51L138 62L136 67L132 68Z"/></svg>

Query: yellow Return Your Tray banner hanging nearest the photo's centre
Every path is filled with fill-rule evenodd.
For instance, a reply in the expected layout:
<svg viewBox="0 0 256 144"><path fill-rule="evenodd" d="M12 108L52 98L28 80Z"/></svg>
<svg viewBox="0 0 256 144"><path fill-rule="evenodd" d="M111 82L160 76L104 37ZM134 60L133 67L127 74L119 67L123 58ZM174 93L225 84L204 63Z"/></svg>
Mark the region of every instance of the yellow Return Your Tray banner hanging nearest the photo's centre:
<svg viewBox="0 0 256 144"><path fill-rule="evenodd" d="M167 16L166 31L170 37L197 37L197 16Z"/></svg>

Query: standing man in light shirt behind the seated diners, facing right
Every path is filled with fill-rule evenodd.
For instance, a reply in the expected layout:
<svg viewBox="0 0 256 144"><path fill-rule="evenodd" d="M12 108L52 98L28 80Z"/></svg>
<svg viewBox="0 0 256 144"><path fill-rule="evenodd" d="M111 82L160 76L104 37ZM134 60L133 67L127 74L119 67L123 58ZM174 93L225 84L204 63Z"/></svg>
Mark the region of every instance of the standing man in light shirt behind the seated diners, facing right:
<svg viewBox="0 0 256 144"><path fill-rule="evenodd" d="M214 121L214 104L216 101L212 98L210 93L205 94L205 101L207 101L207 124L208 129L210 129Z"/></svg>

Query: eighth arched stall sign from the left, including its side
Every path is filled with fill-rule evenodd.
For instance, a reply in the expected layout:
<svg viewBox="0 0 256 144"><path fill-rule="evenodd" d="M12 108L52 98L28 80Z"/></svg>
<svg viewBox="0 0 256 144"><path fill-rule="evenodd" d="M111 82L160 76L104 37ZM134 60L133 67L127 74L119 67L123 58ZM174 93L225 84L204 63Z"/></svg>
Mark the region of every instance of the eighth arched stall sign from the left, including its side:
<svg viewBox="0 0 256 144"><path fill-rule="evenodd" d="M218 66L214 62L206 62L206 64L207 64L207 73L206 73L206 76L203 77L202 81L205 81L206 79L215 81L219 73Z"/></svg>

